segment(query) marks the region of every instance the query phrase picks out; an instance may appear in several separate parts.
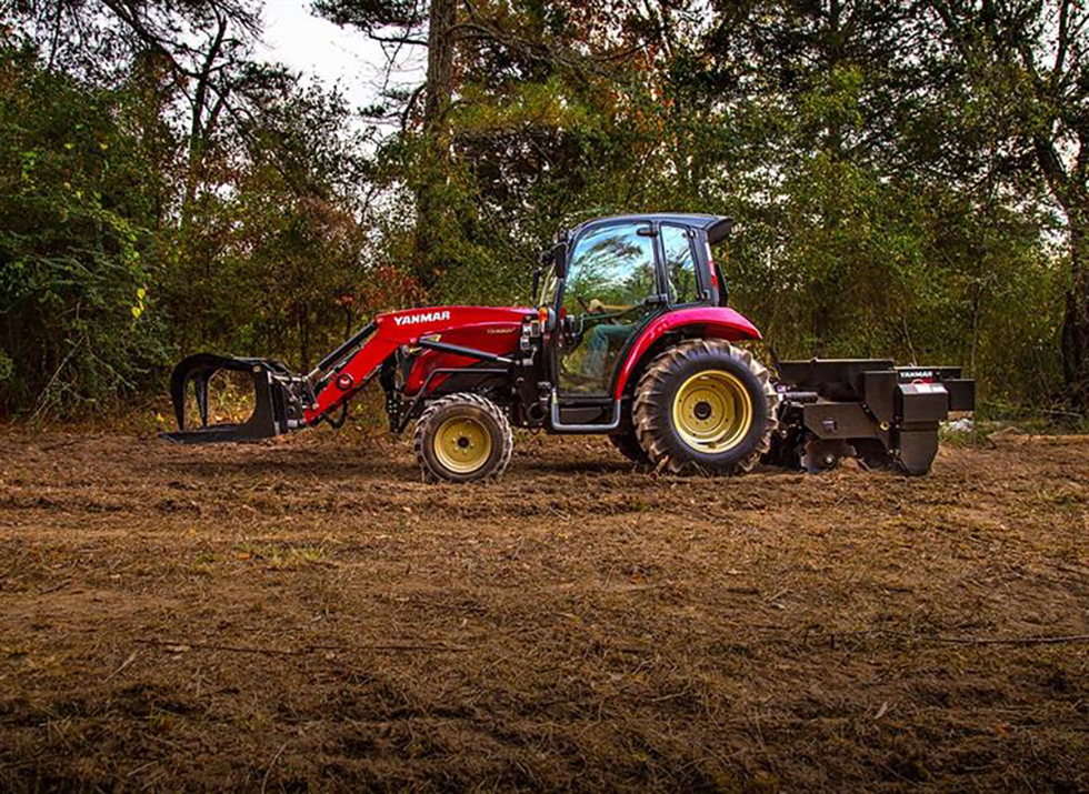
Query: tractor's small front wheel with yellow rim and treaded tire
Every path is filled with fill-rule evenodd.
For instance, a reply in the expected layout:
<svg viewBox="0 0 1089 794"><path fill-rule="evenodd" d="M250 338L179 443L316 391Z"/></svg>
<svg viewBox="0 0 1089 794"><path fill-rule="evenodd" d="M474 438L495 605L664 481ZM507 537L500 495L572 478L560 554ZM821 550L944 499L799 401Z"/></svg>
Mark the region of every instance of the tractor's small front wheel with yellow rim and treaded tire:
<svg viewBox="0 0 1089 794"><path fill-rule="evenodd" d="M480 482L503 475L514 439L496 403L463 393L427 406L416 423L412 445L424 480Z"/></svg>

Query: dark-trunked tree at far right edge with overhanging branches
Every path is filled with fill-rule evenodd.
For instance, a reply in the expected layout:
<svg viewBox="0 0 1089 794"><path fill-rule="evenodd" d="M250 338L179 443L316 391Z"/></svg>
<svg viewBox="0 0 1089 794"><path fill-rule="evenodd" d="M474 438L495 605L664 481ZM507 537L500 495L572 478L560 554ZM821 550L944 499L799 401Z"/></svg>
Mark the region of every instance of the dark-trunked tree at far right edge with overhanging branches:
<svg viewBox="0 0 1089 794"><path fill-rule="evenodd" d="M992 168L1022 194L1042 178L1062 213L1062 365L1070 402L1089 410L1089 11L1076 0L931 7L995 141Z"/></svg>

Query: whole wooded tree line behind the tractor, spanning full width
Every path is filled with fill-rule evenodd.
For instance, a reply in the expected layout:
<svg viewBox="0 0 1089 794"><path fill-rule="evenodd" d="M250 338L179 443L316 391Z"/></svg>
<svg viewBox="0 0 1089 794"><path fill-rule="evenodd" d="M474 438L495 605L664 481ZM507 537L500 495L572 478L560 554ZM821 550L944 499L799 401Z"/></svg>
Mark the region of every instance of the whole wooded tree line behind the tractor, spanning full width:
<svg viewBox="0 0 1089 794"><path fill-rule="evenodd" d="M314 0L368 107L260 56L252 0L0 0L0 415L306 371L376 312L526 303L596 215L736 219L780 356L962 364L1089 411L1081 0Z"/></svg>

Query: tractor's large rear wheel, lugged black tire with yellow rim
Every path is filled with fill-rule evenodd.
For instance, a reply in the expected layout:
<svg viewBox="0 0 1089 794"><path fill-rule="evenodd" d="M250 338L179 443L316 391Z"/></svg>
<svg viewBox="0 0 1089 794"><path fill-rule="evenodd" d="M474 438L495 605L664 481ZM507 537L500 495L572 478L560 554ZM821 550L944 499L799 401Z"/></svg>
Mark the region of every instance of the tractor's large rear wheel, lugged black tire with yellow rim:
<svg viewBox="0 0 1089 794"><path fill-rule="evenodd" d="M673 473L749 471L771 448L779 395L752 353L693 340L651 362L632 421L650 462Z"/></svg>

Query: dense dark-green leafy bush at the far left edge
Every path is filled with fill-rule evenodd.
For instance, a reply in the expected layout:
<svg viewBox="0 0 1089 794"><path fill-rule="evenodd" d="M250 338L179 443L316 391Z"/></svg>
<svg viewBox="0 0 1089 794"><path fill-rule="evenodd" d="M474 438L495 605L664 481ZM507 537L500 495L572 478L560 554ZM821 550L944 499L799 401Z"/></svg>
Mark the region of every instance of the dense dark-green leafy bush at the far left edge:
<svg viewBox="0 0 1089 794"><path fill-rule="evenodd" d="M147 385L164 351L131 100L27 49L0 50L0 405L42 415Z"/></svg>

